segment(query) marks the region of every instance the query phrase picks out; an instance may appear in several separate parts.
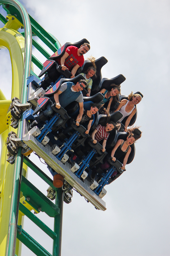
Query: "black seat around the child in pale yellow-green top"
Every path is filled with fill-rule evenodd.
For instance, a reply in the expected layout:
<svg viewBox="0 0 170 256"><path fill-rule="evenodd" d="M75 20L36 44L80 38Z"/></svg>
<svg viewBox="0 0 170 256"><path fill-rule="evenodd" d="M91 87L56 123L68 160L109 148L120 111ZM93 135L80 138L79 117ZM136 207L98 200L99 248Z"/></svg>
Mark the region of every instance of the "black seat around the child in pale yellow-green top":
<svg viewBox="0 0 170 256"><path fill-rule="evenodd" d="M102 74L101 74L101 68L108 62L108 60L105 58L105 57L100 57L99 59L97 59L95 61L95 65L96 65L96 75L93 75L91 77L92 81L93 81L93 84L92 84L92 87L91 87L91 94L94 95L96 94L97 92L100 91L100 87L101 87L101 81L102 81ZM89 67L91 67L92 64L91 64L91 61L89 60L86 60L84 61L84 64L82 67L80 67L78 70L77 70L77 74L80 74L80 73L85 73L87 74L87 69Z"/></svg>

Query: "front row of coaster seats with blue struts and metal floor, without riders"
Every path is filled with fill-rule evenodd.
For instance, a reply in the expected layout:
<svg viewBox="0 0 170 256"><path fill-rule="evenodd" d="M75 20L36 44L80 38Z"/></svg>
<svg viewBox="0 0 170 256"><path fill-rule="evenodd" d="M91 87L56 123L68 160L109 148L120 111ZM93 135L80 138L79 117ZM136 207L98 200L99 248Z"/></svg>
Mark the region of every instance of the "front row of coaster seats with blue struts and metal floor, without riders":
<svg viewBox="0 0 170 256"><path fill-rule="evenodd" d="M116 175L114 177L111 177L113 169L119 169L119 173L117 173L117 175L121 173L122 170L120 169L118 161L113 164L114 168L111 168L110 172L106 173L105 177L102 177L98 183L96 181L92 181L89 177L87 177L88 173L91 173L91 168L93 166L95 167L97 164L103 163L103 159L107 155L107 152L101 151L102 146L99 143L94 144L91 140L89 140L89 135L85 133L86 128L81 125L76 126L75 122L70 119L71 113L68 115L66 110L62 107L60 109L57 109L55 107L55 103L53 103L49 98L59 90L62 83L67 81L77 83L81 78L82 76L78 75L73 79L61 79L45 93L44 97L41 97L38 100L38 105L36 110L34 111L34 115L32 114L32 111L29 111L29 113L31 118L33 119L34 116L40 111L39 116L42 118L40 118L41 121L44 122L43 127L40 128L40 130L34 127L32 128L33 130L28 132L28 120L30 119L24 119L22 140L32 150L36 150L36 153L40 157L42 157L54 171L61 174L70 184L70 186L74 187L81 195L84 195L87 200L95 205L95 207L97 207L98 209L105 209L105 203L100 200L106 194L106 191L103 187L109 182L112 182L113 178L115 179L115 177L118 177ZM103 97L104 96L101 93L97 93L92 97L84 97L84 109L90 109L91 102L99 102L103 99ZM91 100L91 102L89 102L89 100ZM43 117L43 110L46 109L46 104L49 105L49 102L51 108L55 112L55 115L52 114L45 120ZM79 112L79 109L77 109L77 111ZM121 113L117 111L111 115L110 119L116 123L117 119L121 118L119 116L120 114ZM27 116L27 114L25 115ZM76 115L78 115L78 113ZM60 125L61 131L63 131L63 129L65 129L67 126L71 126L73 128L73 131L66 134L66 137L60 136L62 132L59 134L57 133L58 137L56 139L56 130L53 126L57 118L60 117L64 119L63 123ZM94 129L97 123L105 125L107 122L106 119L107 117L105 115L98 116L97 112L95 114L94 124L91 126L91 128ZM38 132L38 134L35 136L36 132ZM112 135L112 132L114 133L114 131L111 131L110 136ZM135 132L138 132L138 130L136 130ZM46 144L42 143L46 135L49 136L49 143L47 146ZM127 134L125 132L117 133L117 139L119 139L119 135L122 136L122 138L124 139L126 139L127 137ZM90 151L87 152L87 150L85 150L86 152L84 153L83 151L87 145L88 147L90 147ZM134 145L131 145L131 148L133 150L131 150L128 163L130 163L134 157L133 152L135 152L135 147L133 148L133 146ZM83 150L81 150L82 148ZM78 157L81 157L81 162L79 163L79 165L75 163L70 164L69 162L67 162L69 156L73 154L72 150L74 150L75 153L78 153ZM110 150L110 148L108 148L108 150ZM81 155L81 152L83 152L83 156Z"/></svg>

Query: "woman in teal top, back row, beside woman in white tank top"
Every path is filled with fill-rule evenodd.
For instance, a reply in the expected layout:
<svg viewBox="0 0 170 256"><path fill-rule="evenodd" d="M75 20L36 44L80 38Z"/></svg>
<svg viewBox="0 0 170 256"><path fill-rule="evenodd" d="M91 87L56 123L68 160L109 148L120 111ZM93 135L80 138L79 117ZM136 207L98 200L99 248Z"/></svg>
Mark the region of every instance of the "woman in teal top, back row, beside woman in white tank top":
<svg viewBox="0 0 170 256"><path fill-rule="evenodd" d="M121 88L120 85L116 85L116 84L111 84L111 88L110 90L106 90L106 89L102 89L100 91L101 94L104 95L104 99L102 101L99 102L99 104L101 104L102 106L104 106L104 104L108 102L108 107L107 110L110 110L110 106L111 104L115 105L116 102L119 101L119 97L118 94L121 92Z"/></svg>

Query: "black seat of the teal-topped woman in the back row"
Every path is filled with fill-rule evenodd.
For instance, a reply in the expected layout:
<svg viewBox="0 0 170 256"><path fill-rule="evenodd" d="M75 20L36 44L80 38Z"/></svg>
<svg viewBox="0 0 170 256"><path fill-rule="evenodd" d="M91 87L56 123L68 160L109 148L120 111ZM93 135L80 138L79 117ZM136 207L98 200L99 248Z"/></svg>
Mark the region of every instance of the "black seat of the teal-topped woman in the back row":
<svg viewBox="0 0 170 256"><path fill-rule="evenodd" d="M118 76L116 76L116 77L114 77L114 78L111 78L111 79L103 78L103 79L102 79L102 82L101 82L100 90L102 90L103 88L106 89L106 90L110 90L111 84L114 83L114 84L116 84L116 85L120 85L120 84L123 83L125 80L126 80L126 78L125 78L122 74L120 74L120 75L118 75ZM119 94L119 98L120 98L120 94ZM108 102L109 102L109 101L108 101ZM104 107L105 107L105 108L107 108L108 102L106 102L106 103L104 104ZM118 105L119 105L119 102L117 102L114 106L112 106L112 104L111 104L111 106L110 106L110 111L117 109Z"/></svg>

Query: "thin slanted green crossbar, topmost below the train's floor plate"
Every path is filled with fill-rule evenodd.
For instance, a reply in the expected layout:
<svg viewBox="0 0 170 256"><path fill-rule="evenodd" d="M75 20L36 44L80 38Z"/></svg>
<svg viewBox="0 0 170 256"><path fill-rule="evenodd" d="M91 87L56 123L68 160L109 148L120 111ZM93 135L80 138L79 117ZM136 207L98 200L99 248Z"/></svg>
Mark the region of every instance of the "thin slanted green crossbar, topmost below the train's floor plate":
<svg viewBox="0 0 170 256"><path fill-rule="evenodd" d="M29 158L24 156L23 162L25 164L27 164L27 166L29 168L31 168L40 178L42 178L45 182L47 182L47 184L49 184L49 186L51 186L54 190L57 190L57 188L55 186L53 186L52 179L50 179L49 176L47 176L43 171L41 171L41 169L38 166L36 166L34 163L32 163L32 161Z"/></svg>

